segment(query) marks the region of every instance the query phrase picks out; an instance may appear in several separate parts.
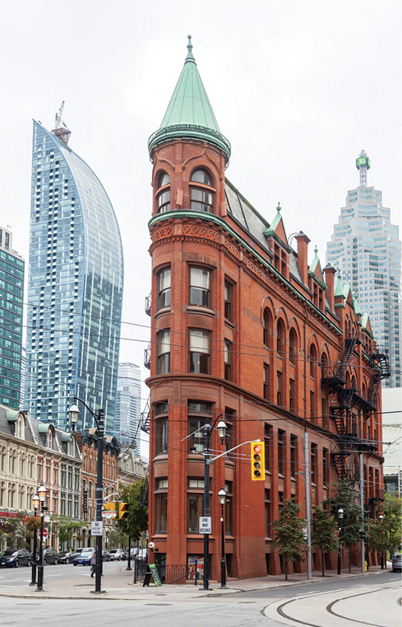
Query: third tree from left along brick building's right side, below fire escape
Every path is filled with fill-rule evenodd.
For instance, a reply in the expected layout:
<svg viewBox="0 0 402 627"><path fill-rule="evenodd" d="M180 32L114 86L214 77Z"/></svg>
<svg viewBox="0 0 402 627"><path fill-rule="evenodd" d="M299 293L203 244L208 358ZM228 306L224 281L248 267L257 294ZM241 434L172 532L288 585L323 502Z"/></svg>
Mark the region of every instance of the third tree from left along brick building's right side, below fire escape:
<svg viewBox="0 0 402 627"><path fill-rule="evenodd" d="M327 503L331 505L332 514L337 520L338 510L343 510L343 519L338 519L338 525L341 529L339 543L347 549L349 553L349 572L350 568L350 548L360 540L361 530L361 508L357 504L359 494L353 490L348 479L339 479L336 485L336 496L329 499Z"/></svg>

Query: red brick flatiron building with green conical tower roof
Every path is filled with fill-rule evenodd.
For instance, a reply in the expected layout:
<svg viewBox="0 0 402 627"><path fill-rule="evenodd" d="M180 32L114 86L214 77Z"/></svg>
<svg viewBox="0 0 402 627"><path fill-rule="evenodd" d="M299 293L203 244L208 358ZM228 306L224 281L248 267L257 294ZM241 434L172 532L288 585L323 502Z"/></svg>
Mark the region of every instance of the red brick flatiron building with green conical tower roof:
<svg viewBox="0 0 402 627"><path fill-rule="evenodd" d="M358 478L374 512L383 484L379 390L387 359L370 319L349 286L338 279L335 287L336 269L322 269L317 251L308 264L305 233L296 235L297 253L290 246L285 209L272 208L268 222L225 177L231 146L192 48L189 41L149 138L149 539L166 583L195 559L218 579L222 542L229 576L279 574L272 525L292 497L305 516L305 455L312 503L332 498L338 478L353 485ZM264 164L253 166L264 175ZM213 425L221 419L219 435ZM205 543L200 517L211 519ZM361 559L356 549L353 563ZM313 553L320 568L320 551ZM327 557L334 568L337 554Z"/></svg>

